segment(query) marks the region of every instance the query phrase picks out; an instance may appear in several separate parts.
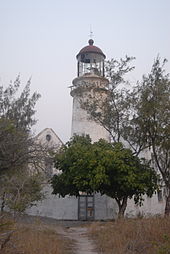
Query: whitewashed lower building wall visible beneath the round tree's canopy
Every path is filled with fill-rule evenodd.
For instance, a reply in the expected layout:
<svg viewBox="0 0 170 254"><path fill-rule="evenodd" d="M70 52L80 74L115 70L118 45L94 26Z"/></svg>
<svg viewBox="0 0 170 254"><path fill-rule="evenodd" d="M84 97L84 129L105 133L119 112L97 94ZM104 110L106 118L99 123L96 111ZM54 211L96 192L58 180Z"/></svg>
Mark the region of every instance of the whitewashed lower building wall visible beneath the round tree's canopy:
<svg viewBox="0 0 170 254"><path fill-rule="evenodd" d="M46 199L37 202L26 210L26 213L34 216L50 217L57 220L78 220L78 198L66 196L65 198L53 195L52 188L47 185L44 188ZM133 199L128 200L125 216L128 218L138 216L153 216L164 214L165 200L158 202L157 194L152 198L144 196L145 201L140 207L135 205ZM118 205L116 201L106 195L95 194L95 220L112 220L117 218Z"/></svg>

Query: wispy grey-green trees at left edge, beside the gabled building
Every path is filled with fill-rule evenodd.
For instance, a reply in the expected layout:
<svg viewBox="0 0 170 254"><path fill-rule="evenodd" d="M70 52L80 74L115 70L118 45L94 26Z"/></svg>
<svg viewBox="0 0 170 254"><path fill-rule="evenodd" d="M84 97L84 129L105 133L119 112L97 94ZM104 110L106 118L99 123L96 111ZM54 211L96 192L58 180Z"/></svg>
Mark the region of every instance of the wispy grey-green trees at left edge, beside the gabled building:
<svg viewBox="0 0 170 254"><path fill-rule="evenodd" d="M1 211L5 205L23 211L42 197L42 178L37 173L47 150L31 134L31 127L36 123L34 107L40 95L31 95L30 80L23 91L19 92L20 89L19 76L7 88L0 86Z"/></svg>

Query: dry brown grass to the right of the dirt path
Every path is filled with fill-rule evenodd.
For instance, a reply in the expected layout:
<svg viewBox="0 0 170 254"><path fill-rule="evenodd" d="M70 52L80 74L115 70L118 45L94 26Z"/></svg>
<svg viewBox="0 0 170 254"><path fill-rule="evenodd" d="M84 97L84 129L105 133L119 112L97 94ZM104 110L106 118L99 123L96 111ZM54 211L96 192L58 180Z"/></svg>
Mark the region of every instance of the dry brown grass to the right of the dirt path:
<svg viewBox="0 0 170 254"><path fill-rule="evenodd" d="M90 234L99 253L170 254L170 218L93 223Z"/></svg>

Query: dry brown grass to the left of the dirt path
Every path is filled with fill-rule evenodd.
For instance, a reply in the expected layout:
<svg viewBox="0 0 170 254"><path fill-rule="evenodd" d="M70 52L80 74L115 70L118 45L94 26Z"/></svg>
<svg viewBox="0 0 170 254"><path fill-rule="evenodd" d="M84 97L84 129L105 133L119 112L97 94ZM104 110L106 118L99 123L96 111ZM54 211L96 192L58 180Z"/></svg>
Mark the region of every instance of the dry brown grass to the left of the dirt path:
<svg viewBox="0 0 170 254"><path fill-rule="evenodd" d="M9 221L8 221L9 222ZM2 225L2 223L1 223ZM39 222L31 225L8 224L0 227L0 240L4 233L12 232L9 241L0 250L3 254L66 254L68 240L63 239L57 229ZM6 237L6 235L5 235ZM3 241L2 241L3 240ZM1 245L2 246L2 245Z"/></svg>

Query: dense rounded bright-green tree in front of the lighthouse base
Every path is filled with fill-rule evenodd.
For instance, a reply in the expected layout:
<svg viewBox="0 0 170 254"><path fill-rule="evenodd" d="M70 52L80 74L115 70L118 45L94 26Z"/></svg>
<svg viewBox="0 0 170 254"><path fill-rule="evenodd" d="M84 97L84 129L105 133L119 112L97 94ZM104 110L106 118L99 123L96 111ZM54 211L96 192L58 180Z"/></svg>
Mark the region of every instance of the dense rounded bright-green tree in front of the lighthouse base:
<svg viewBox="0 0 170 254"><path fill-rule="evenodd" d="M99 140L92 144L89 137L75 136L55 161L60 174L52 178L53 194L100 192L116 200L119 216L124 215L128 198L142 204L142 195L152 196L157 188L154 170L121 143Z"/></svg>

